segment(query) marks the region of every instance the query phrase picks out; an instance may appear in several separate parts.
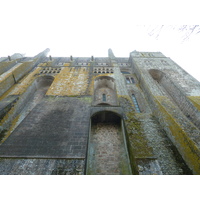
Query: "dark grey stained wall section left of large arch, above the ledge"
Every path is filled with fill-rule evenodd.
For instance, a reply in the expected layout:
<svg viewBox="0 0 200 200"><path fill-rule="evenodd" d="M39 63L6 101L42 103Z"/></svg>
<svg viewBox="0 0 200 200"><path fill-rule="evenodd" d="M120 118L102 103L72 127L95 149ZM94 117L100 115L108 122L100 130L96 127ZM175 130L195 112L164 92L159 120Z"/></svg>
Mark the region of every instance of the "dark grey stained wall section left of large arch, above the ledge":
<svg viewBox="0 0 200 200"><path fill-rule="evenodd" d="M75 102L76 109L71 106ZM0 146L0 157L84 158L88 129L85 103L46 98Z"/></svg>

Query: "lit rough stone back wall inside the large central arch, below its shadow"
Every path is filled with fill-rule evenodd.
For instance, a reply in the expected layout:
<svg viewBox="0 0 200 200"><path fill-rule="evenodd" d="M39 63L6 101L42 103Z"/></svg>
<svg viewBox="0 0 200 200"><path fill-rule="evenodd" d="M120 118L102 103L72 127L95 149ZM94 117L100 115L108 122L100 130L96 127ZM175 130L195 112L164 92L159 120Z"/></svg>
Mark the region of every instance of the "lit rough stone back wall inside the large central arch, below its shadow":
<svg viewBox="0 0 200 200"><path fill-rule="evenodd" d="M89 148L88 174L131 174L119 124L93 125Z"/></svg>

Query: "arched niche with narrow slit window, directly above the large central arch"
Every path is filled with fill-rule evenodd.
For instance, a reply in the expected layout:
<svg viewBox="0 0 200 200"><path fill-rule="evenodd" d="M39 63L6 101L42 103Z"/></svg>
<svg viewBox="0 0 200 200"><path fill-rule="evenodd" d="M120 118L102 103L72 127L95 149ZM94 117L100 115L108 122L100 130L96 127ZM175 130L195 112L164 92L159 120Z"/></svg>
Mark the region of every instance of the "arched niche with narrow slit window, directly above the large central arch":
<svg viewBox="0 0 200 200"><path fill-rule="evenodd" d="M117 106L115 81L112 77L100 76L94 81L94 105Z"/></svg>

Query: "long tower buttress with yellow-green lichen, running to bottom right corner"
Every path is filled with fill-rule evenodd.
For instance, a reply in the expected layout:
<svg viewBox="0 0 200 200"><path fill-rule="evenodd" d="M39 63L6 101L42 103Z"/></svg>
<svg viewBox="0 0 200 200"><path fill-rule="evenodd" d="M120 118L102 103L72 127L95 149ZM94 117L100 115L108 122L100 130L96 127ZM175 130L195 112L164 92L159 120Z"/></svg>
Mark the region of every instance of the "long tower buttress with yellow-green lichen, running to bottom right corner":
<svg viewBox="0 0 200 200"><path fill-rule="evenodd" d="M160 87L158 83L156 84L156 81L153 79L153 81L151 80L148 72L145 72L144 66L141 65L140 61L141 60L133 58L132 66L153 114L159 120L187 165L193 170L193 173L198 174L198 166L200 166L198 150L199 130L194 127L173 102L171 102L162 87ZM149 67L147 67L147 69L149 69ZM180 132L182 132L182 134L180 134Z"/></svg>

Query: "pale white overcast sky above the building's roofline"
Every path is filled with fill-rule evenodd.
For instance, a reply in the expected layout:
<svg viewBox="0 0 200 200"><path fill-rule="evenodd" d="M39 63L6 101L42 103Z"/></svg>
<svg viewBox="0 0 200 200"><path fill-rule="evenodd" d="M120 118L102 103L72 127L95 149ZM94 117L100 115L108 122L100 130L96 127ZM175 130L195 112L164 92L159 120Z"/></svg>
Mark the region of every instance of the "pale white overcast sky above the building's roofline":
<svg viewBox="0 0 200 200"><path fill-rule="evenodd" d="M195 24L198 1L1 0L0 57L128 57L133 50L161 51L200 81L200 34L182 41L177 32L156 38L138 24ZM188 20L190 19L190 20ZM192 19L192 20L191 20Z"/></svg>

